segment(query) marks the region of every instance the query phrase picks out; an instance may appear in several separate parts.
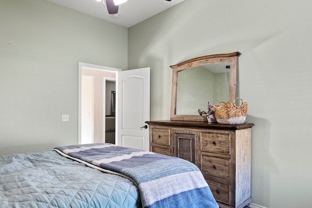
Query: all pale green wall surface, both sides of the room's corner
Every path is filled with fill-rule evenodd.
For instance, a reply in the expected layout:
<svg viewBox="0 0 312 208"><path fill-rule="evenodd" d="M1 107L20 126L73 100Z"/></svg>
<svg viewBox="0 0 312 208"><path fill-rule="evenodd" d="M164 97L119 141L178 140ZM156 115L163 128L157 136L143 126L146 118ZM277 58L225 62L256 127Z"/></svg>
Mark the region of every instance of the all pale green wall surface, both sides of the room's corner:
<svg viewBox="0 0 312 208"><path fill-rule="evenodd" d="M45 0L0 0L0 154L77 143L78 61L151 67L158 120L170 118L170 65L239 51L239 96L255 124L253 204L310 207L311 8L309 0L185 0L127 30Z"/></svg>

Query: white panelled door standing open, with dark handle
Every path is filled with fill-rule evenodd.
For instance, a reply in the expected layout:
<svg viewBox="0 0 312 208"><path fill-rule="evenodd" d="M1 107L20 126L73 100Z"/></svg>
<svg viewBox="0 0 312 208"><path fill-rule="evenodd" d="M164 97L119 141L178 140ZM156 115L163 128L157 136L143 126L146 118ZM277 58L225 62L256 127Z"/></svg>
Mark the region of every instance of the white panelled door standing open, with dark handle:
<svg viewBox="0 0 312 208"><path fill-rule="evenodd" d="M150 68L117 72L116 79L116 144L149 151Z"/></svg>

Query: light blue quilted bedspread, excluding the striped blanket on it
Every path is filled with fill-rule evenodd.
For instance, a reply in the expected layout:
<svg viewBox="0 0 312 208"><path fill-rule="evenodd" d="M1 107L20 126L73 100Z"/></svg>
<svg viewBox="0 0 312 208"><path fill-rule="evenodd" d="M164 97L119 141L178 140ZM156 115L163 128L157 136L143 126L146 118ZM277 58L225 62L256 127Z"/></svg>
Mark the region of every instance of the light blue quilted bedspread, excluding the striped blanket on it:
<svg viewBox="0 0 312 208"><path fill-rule="evenodd" d="M128 207L141 207L141 201L127 178L56 151L0 156L0 208Z"/></svg>

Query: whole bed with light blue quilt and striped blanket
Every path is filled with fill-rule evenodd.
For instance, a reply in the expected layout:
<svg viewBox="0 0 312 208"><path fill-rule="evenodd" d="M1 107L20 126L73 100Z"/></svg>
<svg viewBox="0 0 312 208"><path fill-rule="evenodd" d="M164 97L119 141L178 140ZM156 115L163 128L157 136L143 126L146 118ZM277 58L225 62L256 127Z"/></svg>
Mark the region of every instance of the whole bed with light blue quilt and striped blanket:
<svg viewBox="0 0 312 208"><path fill-rule="evenodd" d="M186 160L108 143L0 156L0 208L218 208Z"/></svg>

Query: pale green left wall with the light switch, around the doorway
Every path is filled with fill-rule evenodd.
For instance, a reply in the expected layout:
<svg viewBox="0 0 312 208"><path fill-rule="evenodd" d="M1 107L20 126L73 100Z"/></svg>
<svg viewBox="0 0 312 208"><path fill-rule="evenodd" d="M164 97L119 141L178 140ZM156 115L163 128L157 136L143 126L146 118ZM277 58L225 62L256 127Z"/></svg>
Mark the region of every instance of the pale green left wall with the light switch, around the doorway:
<svg viewBox="0 0 312 208"><path fill-rule="evenodd" d="M0 155L77 144L78 62L127 69L128 29L46 0L0 0L0 28Z"/></svg>

